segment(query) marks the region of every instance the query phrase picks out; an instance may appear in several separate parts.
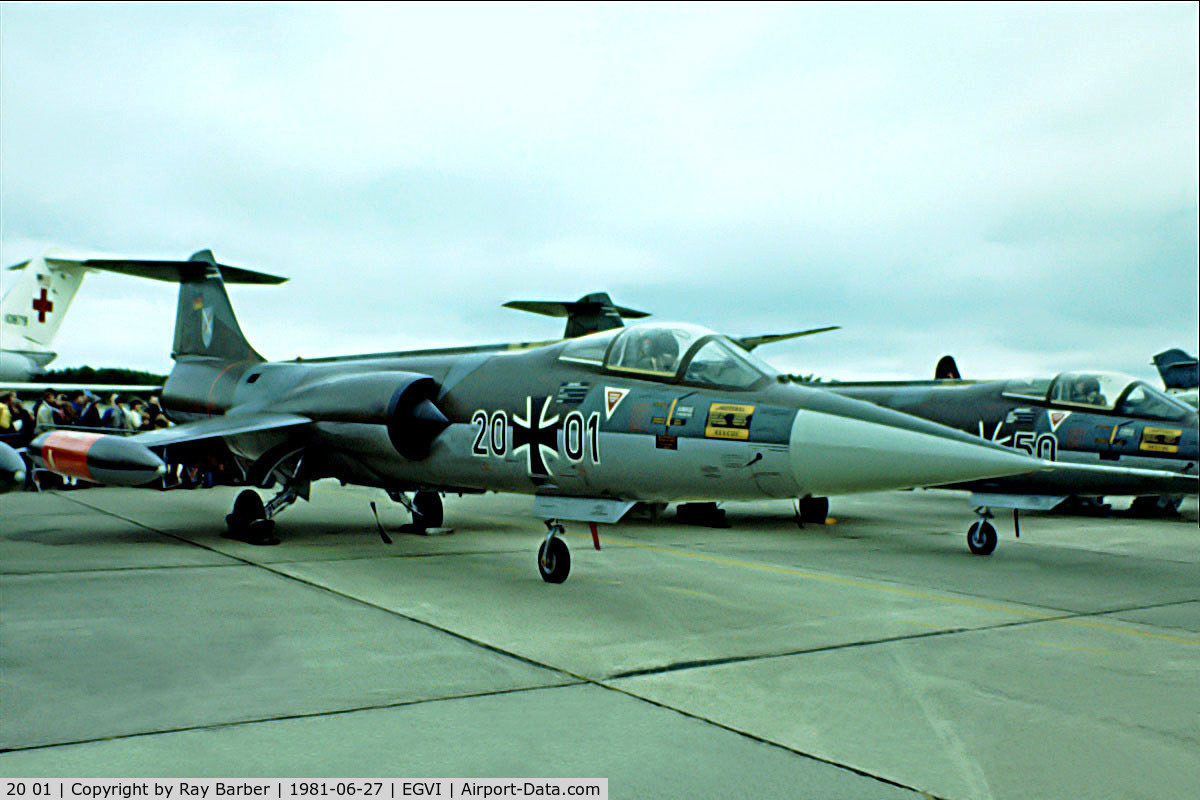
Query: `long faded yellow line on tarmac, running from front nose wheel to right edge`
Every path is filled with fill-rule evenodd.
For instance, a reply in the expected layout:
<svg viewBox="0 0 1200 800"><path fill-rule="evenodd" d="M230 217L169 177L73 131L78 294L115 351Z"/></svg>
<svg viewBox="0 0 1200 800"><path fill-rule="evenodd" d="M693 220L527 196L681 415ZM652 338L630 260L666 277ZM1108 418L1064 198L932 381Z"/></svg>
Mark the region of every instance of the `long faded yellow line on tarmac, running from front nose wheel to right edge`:
<svg viewBox="0 0 1200 800"><path fill-rule="evenodd" d="M568 534L568 535L571 536L572 539L587 539L588 541L590 541L590 536L583 536L581 534ZM650 551L653 553L664 553L666 555L679 555L683 558L695 559L700 561L708 561L709 564L720 564L722 566L736 566L746 570L756 570L760 572L786 575L796 578L805 578L808 581L818 581L822 583L852 587L854 589L882 591L890 595L899 595L901 597L929 600L932 602L944 603L948 606L960 606L964 608L977 608L982 610L998 612L1003 614L1015 614L1018 616L1026 616L1036 620L1055 620L1058 622L1063 622L1066 625L1091 627L1100 631L1108 631L1110 633L1126 633L1129 636L1136 636L1145 639L1158 639L1160 642L1171 642L1174 644L1187 644L1194 648L1200 646L1200 637L1183 637L1183 636L1175 636L1171 633L1158 633L1154 631L1146 631L1140 627L1115 625L1111 622L1102 622L1091 619L1079 619L1079 618L1057 619L1061 616L1061 613L1057 612L1043 612L1033 608L1024 608L1020 606L1007 606L1002 603L973 600L971 597L962 597L958 595L946 595L935 591L925 591L923 589L910 589L907 587L898 587L887 583L878 583L876 581L869 581L864 578L850 578L840 575L826 575L822 572L812 572L811 570L800 570L791 566L780 566L778 564L764 564L762 561L746 561L743 559L727 558L725 555L713 555L710 553L696 553L692 551L682 551L674 547L664 547L661 545L648 545L646 542L638 542L632 539L613 536L611 534L601 536L601 541L616 545L623 545L625 547L636 547L640 549Z"/></svg>

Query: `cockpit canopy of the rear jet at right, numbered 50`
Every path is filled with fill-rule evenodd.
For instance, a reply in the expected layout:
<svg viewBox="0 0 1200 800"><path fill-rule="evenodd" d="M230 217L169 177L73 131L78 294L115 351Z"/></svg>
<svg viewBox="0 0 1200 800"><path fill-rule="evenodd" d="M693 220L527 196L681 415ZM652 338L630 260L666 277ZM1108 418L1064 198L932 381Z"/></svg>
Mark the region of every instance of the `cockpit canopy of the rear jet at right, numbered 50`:
<svg viewBox="0 0 1200 800"><path fill-rule="evenodd" d="M1183 420L1192 409L1159 389L1117 372L1063 372L1052 379L1015 379L1004 384L1008 397L1028 397L1069 408L1093 408L1132 416Z"/></svg>

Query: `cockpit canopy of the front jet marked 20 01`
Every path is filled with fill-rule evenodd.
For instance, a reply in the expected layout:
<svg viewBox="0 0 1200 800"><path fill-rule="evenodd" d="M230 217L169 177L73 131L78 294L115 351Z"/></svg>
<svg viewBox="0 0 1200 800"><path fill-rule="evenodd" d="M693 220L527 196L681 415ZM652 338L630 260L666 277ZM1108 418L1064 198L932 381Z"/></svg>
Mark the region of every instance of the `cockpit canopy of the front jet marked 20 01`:
<svg viewBox="0 0 1200 800"><path fill-rule="evenodd" d="M778 374L720 333L689 323L642 323L583 336L559 359L648 380L748 389Z"/></svg>

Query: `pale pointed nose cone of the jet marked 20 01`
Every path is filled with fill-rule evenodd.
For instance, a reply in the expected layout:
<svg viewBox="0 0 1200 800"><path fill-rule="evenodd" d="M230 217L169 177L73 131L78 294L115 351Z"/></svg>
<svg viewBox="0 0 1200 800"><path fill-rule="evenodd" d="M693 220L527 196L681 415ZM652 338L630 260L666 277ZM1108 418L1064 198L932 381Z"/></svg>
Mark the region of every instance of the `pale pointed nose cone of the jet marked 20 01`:
<svg viewBox="0 0 1200 800"><path fill-rule="evenodd" d="M792 423L792 473L803 494L940 486L1042 469L995 445L802 410Z"/></svg>

